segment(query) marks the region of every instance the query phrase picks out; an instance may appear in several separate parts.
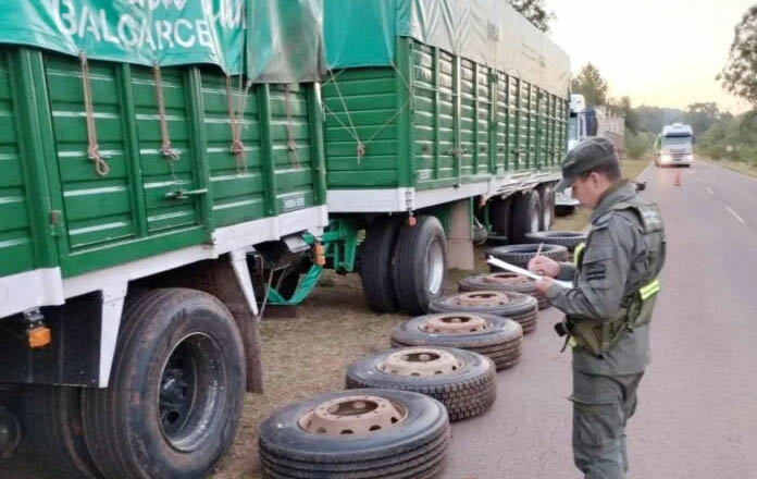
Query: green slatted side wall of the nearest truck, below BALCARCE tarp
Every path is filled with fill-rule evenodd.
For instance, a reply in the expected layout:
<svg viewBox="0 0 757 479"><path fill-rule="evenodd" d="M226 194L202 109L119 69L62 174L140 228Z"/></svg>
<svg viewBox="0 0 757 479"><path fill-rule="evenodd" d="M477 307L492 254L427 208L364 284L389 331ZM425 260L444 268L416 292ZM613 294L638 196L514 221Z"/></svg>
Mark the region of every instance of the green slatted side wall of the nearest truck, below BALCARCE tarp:
<svg viewBox="0 0 757 479"><path fill-rule="evenodd" d="M231 91L233 109L244 108L238 162L220 72L163 67L158 82L149 67L88 69L104 175L88 153L79 60L0 49L0 275L60 265L72 277L325 202L317 86ZM176 157L162 151L159 85Z"/></svg>

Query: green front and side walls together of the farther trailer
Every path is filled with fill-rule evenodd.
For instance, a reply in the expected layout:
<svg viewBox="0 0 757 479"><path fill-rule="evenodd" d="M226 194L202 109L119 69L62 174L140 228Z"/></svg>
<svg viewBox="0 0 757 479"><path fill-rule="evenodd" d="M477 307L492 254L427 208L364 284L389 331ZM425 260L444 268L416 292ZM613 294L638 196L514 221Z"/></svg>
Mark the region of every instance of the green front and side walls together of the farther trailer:
<svg viewBox="0 0 757 479"><path fill-rule="evenodd" d="M430 189L557 165L564 98L409 38L397 48L394 67L324 84L330 188Z"/></svg>

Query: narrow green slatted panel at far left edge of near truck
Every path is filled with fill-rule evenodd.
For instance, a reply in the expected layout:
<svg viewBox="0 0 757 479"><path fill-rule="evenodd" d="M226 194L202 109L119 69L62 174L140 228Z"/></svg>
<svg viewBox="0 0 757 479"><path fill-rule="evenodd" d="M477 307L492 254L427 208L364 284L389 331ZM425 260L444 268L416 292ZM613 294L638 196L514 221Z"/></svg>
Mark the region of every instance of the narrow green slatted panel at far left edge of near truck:
<svg viewBox="0 0 757 479"><path fill-rule="evenodd" d="M0 277L35 266L27 196L20 151L20 126L10 72L10 56L0 50ZM22 126L23 127L23 126Z"/></svg>

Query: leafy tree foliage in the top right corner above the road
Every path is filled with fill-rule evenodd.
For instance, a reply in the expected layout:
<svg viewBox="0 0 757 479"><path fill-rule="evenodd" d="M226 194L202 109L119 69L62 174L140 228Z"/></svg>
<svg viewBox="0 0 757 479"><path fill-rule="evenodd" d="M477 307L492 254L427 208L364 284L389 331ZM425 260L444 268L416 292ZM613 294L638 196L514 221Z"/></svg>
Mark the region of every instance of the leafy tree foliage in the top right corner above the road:
<svg viewBox="0 0 757 479"><path fill-rule="evenodd" d="M728 93L757 108L757 5L750 7L734 28L728 63L717 79Z"/></svg>

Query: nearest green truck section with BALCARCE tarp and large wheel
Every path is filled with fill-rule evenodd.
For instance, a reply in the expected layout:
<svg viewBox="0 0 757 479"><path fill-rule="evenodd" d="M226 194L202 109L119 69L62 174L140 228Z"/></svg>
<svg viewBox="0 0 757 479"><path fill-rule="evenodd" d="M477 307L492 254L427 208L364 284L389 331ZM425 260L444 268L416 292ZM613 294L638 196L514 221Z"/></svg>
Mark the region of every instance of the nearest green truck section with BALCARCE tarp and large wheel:
<svg viewBox="0 0 757 479"><path fill-rule="evenodd" d="M295 3L0 12L0 456L190 478L232 443L261 388L251 253L327 225L322 13Z"/></svg>

